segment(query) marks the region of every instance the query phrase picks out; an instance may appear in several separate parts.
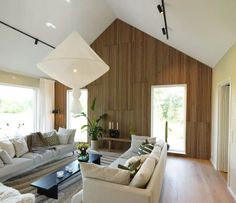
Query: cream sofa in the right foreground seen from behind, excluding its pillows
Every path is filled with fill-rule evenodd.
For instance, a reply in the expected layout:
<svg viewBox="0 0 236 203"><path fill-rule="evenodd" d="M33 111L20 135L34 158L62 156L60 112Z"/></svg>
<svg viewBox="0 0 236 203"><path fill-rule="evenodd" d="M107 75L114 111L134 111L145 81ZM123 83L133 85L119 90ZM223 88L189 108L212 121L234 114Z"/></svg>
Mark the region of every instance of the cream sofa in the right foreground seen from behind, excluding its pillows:
<svg viewBox="0 0 236 203"><path fill-rule="evenodd" d="M124 164L137 155L131 149L115 160L110 167ZM155 166L152 177L145 189L105 182L93 178L83 179L83 190L73 196L72 203L158 203L160 199L167 159L165 144L160 160Z"/></svg>

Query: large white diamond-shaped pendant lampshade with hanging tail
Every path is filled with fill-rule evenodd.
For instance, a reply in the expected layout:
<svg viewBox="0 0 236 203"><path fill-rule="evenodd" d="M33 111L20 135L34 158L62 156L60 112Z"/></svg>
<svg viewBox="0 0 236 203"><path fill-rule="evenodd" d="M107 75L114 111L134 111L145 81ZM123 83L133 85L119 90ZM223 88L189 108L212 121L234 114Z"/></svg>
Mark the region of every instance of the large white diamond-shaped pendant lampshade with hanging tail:
<svg viewBox="0 0 236 203"><path fill-rule="evenodd" d="M78 32L73 32L37 66L51 78L73 88L71 111L74 114L81 110L79 89L109 70Z"/></svg>

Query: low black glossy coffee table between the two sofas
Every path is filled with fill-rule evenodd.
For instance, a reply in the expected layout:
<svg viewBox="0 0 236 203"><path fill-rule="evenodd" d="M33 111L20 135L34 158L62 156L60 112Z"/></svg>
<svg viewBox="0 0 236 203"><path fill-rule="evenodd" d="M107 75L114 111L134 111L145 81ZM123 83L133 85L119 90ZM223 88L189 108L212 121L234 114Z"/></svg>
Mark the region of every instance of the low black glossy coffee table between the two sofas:
<svg viewBox="0 0 236 203"><path fill-rule="evenodd" d="M95 163L100 165L102 155L89 153L89 163ZM65 170L65 167L69 166L73 169L73 172L69 173ZM62 178L57 178L57 171L43 176L39 180L31 183L31 186L37 188L38 194L46 195L47 197L58 199L58 186L64 181L68 180L78 172L80 172L79 161L75 160L72 163L61 167L57 171L64 171Z"/></svg>

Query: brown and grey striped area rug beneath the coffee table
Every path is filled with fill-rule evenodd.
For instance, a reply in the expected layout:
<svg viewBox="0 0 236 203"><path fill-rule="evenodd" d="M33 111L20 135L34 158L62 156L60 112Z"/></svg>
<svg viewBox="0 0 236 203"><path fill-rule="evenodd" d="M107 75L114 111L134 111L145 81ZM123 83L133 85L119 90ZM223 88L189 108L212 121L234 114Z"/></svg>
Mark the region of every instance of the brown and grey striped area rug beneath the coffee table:
<svg viewBox="0 0 236 203"><path fill-rule="evenodd" d="M120 156L119 153L113 152L99 153L102 154L101 165L104 166L109 165ZM82 189L82 178L80 173L59 186L58 200L37 194L37 190L34 187L31 187L30 184L44 175L57 171L60 167L76 159L76 155L67 156L64 159L48 163L23 175L14 177L4 182L4 184L19 190L21 193L30 192L35 194L36 203L70 203L72 196Z"/></svg>

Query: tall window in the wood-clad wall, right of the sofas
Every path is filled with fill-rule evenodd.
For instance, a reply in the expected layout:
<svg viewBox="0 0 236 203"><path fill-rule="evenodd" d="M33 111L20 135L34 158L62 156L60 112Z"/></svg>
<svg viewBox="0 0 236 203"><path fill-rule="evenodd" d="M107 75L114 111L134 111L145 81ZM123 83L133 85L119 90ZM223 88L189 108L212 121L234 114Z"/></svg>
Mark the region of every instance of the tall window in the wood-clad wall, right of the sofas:
<svg viewBox="0 0 236 203"><path fill-rule="evenodd" d="M165 140L170 151L185 153L186 85L152 87L152 136Z"/></svg>

